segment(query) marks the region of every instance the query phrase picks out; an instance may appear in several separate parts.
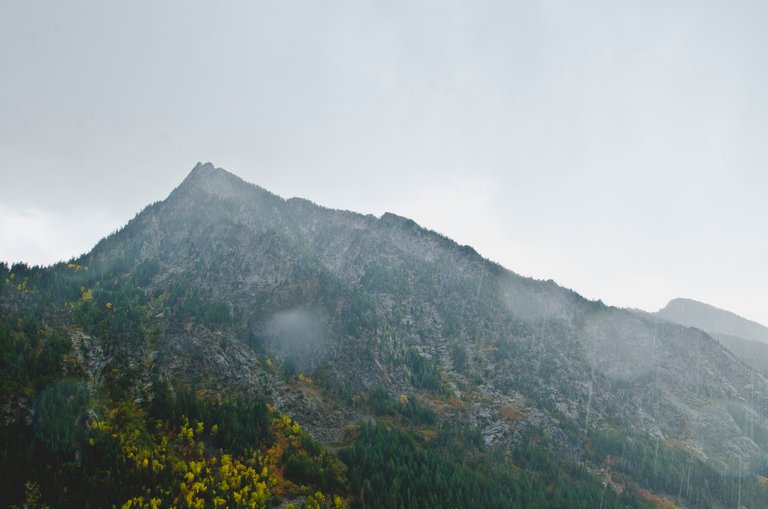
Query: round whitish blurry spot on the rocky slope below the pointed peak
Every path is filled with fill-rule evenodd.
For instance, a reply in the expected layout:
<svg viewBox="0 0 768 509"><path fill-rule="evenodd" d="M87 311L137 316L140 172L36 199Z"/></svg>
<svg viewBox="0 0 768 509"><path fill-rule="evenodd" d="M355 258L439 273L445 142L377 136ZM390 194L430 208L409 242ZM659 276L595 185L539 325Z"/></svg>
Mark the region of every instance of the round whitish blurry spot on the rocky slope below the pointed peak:
<svg viewBox="0 0 768 509"><path fill-rule="evenodd" d="M269 348L288 370L311 373L328 355L328 326L316 308L277 312L268 320L265 332Z"/></svg>

